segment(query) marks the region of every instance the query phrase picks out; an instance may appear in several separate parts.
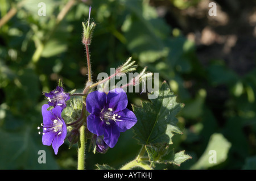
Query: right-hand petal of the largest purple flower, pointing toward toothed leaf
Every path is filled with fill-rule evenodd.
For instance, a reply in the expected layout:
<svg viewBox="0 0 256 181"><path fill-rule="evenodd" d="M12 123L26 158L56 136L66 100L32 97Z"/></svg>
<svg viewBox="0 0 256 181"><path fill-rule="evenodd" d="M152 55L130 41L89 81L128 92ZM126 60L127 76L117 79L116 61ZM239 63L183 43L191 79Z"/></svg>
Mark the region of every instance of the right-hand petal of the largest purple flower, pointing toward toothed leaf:
<svg viewBox="0 0 256 181"><path fill-rule="evenodd" d="M133 111L125 108L125 110L117 112L117 115L120 116L116 121L118 130L120 132L125 132L127 129L130 129L137 123L137 117Z"/></svg>

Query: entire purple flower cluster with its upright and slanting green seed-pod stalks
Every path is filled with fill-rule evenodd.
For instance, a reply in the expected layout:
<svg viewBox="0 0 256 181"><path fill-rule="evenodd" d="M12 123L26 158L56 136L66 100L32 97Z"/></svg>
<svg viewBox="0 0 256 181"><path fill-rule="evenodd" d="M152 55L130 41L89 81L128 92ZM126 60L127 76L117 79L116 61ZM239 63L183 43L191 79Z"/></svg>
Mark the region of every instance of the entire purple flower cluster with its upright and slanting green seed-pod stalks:
<svg viewBox="0 0 256 181"><path fill-rule="evenodd" d="M55 154L57 154L66 137L71 145L76 142L79 144L85 142L81 140L86 137L86 139L91 139L94 153L96 151L98 153L106 153L109 148L113 148L117 144L121 132L125 132L137 123L137 117L133 111L126 108L128 99L126 92L121 89L122 87L113 89L108 94L99 90L90 92L93 87L106 83L113 77L118 76L118 74L129 73L137 68L135 61L131 61L130 57L125 64L117 68L113 75L93 83L92 71L90 70L89 45L92 42L92 33L96 24L90 22L91 9L92 7L89 7L88 22L82 23L84 30L82 43L85 45L88 63L88 82L84 91L82 93L74 93L75 91L66 93L63 90L61 81L59 81L59 86L55 90L44 92L48 104L42 106L42 142L44 145L52 145ZM143 75L145 70L143 69L141 74L124 87L135 86L134 82L144 81L144 78L147 77L147 74ZM65 110L66 124L61 117L61 113L67 107L66 102L71 96L82 96L82 101L80 104L73 99L74 105L79 105L79 107L72 106L71 101L71 107ZM88 112L86 110L90 113L89 115L87 115ZM67 121L66 118L70 120ZM80 145L79 148L82 148L82 146Z"/></svg>

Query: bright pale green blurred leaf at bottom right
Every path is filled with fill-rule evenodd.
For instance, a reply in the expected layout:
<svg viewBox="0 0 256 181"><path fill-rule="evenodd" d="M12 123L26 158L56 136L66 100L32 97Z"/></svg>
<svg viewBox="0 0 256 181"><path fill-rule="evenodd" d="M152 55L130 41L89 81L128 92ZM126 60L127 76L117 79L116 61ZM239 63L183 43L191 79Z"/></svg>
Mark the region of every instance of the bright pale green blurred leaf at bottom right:
<svg viewBox="0 0 256 181"><path fill-rule="evenodd" d="M212 134L203 155L191 169L208 169L225 162L230 147L230 142L221 133Z"/></svg>

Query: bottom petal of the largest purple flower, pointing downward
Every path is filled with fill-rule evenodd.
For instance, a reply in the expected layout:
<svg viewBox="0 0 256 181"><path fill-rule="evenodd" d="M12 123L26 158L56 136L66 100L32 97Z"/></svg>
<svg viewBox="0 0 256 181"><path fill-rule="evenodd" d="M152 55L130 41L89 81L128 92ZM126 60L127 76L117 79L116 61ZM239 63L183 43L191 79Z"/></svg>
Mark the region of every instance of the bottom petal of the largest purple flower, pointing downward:
<svg viewBox="0 0 256 181"><path fill-rule="evenodd" d="M117 125L110 124L105 128L104 141L110 148L113 148L117 144L120 132L117 128Z"/></svg>

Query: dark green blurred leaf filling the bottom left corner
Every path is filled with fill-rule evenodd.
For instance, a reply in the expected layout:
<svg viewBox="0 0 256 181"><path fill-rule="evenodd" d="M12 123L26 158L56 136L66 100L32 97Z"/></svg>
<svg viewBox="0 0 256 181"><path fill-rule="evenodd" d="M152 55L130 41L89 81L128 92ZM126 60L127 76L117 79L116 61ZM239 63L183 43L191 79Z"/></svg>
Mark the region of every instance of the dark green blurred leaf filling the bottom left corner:
<svg viewBox="0 0 256 181"><path fill-rule="evenodd" d="M39 144L36 135L29 126L20 132L0 129L0 169L59 169L52 148ZM38 162L39 150L46 151L46 163Z"/></svg>

